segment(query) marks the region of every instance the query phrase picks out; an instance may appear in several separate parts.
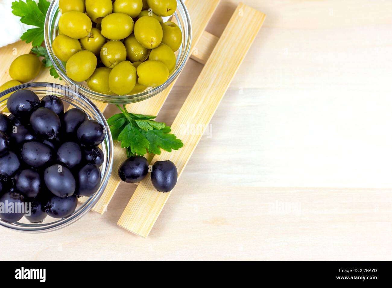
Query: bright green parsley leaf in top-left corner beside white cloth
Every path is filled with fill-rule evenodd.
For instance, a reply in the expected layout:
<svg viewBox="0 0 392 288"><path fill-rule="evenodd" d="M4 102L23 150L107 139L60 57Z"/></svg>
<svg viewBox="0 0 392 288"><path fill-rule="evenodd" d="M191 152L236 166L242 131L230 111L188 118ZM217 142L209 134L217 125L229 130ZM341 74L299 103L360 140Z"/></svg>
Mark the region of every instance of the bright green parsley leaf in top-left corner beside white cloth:
<svg viewBox="0 0 392 288"><path fill-rule="evenodd" d="M49 5L50 2L47 0L39 0L38 4L33 0L12 2L12 14L19 16L20 22L38 27L28 29L20 39L26 43L33 42L33 46L42 45L42 42L44 42L45 16Z"/></svg>

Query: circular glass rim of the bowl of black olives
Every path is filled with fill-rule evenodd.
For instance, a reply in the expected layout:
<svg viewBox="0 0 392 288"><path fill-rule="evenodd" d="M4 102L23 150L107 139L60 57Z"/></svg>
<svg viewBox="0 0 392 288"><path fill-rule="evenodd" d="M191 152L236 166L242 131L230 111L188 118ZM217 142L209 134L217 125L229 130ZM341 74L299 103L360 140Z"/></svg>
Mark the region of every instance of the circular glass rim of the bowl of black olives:
<svg viewBox="0 0 392 288"><path fill-rule="evenodd" d="M17 85L14 87L11 87L7 90L4 90L0 92L0 97L3 97L9 93L12 93L14 91L20 90L20 89L28 89L28 88L48 88L48 85L51 87L55 87L56 89L61 89L61 91L67 91L73 95L69 96L67 95L66 97L69 98L74 98L74 96L77 96L78 98L82 98L83 101L87 103L87 106L90 109L93 109L94 114L96 114L98 117L96 121L102 123L104 127L106 127L107 131L109 131L109 125L106 121L105 116L103 116L102 112L96 107L96 105L91 101L89 98L87 98L85 95L83 95L80 92L75 92L72 89L69 89L66 85L58 84L58 83L50 83L50 82L32 82L32 83L24 83L21 85ZM1 103L0 103L1 105ZM95 117L94 117L95 118ZM104 140L105 141L105 140ZM92 196L90 196L83 204L80 206L78 210L76 210L76 213L74 212L71 214L71 216L66 217L66 218L61 218L58 219L57 221L53 221L51 223L24 223L23 225L18 225L15 223L8 223L3 220L0 220L0 225L4 226L5 228L9 228L11 230L19 231L19 232L27 232L27 233L43 233L43 232L51 232L55 231L61 228L64 228L68 225L71 225L72 223L76 222L80 218L82 218L87 212L89 212L94 205L98 202L100 197L103 195L103 192L105 191L107 187L107 183L109 182L109 178L111 176L111 172L113 170L113 138L111 133L107 133L107 155L108 155L108 161L107 161L107 166L105 167L105 174L103 175L100 183L100 189L95 192Z"/></svg>

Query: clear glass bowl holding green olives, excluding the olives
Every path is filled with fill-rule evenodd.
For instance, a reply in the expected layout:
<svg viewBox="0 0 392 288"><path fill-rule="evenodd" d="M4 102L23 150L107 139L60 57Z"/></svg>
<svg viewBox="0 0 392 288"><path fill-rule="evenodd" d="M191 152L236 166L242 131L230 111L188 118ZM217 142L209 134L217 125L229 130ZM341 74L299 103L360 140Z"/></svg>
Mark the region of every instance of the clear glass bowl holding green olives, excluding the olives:
<svg viewBox="0 0 392 288"><path fill-rule="evenodd" d="M163 17L164 21L167 21L171 18L171 21L175 22L178 27L180 27L182 32L182 44L180 46L180 49L178 49L178 51L176 52L176 67L174 71L169 75L169 78L166 80L166 82L160 86L148 89L138 94L124 96L102 94L90 90L86 82L75 82L74 80L67 77L67 74L65 72L65 62L60 61L53 53L52 42L54 38L58 35L58 20L61 16L61 13L58 11L58 1L59 0L52 1L46 14L44 29L45 46L48 51L49 58L53 63L53 67L54 69L56 69L60 77L64 79L65 82L67 82L69 85L79 85L80 91L90 99L113 104L127 104L148 99L167 88L174 81L174 79L177 78L178 74L180 74L181 70L185 66L185 62L191 51L191 20L189 18L189 13L183 0L177 0L176 13L174 13L170 17Z"/></svg>

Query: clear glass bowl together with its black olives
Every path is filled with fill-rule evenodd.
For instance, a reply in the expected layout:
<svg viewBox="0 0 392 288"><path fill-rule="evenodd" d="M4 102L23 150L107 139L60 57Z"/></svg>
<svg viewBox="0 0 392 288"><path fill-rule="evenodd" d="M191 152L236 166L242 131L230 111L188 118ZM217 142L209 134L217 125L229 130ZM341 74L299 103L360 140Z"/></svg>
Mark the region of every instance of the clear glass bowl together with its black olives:
<svg viewBox="0 0 392 288"><path fill-rule="evenodd" d="M49 232L80 219L102 195L113 140L77 87L26 83L0 93L0 225Z"/></svg>

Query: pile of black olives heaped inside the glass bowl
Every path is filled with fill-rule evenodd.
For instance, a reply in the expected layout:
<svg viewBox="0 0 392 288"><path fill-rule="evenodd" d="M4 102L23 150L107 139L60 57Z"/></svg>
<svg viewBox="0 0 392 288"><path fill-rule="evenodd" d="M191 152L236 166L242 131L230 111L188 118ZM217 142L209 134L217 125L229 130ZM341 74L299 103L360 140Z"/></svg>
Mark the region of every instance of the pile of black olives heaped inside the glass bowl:
<svg viewBox="0 0 392 288"><path fill-rule="evenodd" d="M14 223L25 215L38 223L70 216L77 197L100 186L105 128L80 109L64 113L57 96L40 100L30 90L11 94L7 109L9 116L0 113L0 218ZM4 209L10 203L31 209Z"/></svg>

